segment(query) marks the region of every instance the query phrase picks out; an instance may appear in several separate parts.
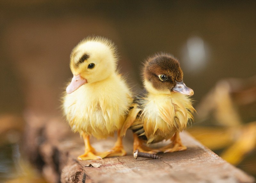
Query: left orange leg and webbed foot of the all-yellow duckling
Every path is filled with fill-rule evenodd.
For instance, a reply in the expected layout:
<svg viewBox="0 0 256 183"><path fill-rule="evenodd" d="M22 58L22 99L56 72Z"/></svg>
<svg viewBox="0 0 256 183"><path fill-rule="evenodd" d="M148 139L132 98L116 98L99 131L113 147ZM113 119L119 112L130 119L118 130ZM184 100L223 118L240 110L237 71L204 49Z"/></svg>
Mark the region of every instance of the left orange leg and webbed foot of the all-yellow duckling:
<svg viewBox="0 0 256 183"><path fill-rule="evenodd" d="M90 136L86 135L85 133L82 134L84 139L84 154L77 157L78 160L95 160L95 159L102 159L106 157L108 154L98 153L95 149L91 146L90 143Z"/></svg>

